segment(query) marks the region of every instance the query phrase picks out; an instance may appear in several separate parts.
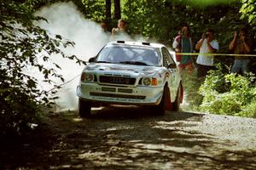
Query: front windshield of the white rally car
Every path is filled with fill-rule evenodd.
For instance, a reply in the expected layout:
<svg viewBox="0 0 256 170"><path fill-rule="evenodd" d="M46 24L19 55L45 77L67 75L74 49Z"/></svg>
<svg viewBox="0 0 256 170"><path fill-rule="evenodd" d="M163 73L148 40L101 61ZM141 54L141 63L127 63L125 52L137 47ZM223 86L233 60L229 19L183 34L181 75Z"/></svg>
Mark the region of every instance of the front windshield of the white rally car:
<svg viewBox="0 0 256 170"><path fill-rule="evenodd" d="M159 56L158 48L109 45L98 54L96 62L159 66Z"/></svg>

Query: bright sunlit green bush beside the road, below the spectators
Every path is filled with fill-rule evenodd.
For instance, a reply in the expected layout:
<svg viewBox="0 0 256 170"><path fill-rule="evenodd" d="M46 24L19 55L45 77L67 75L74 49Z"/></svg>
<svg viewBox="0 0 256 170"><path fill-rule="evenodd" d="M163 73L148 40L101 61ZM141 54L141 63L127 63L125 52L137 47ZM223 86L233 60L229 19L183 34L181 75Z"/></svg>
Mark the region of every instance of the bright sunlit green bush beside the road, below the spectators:
<svg viewBox="0 0 256 170"><path fill-rule="evenodd" d="M210 71L199 89L203 96L201 111L233 116L255 116L256 87L252 83L253 75L243 77L236 74L224 74L221 67ZM255 111L254 111L255 112Z"/></svg>

